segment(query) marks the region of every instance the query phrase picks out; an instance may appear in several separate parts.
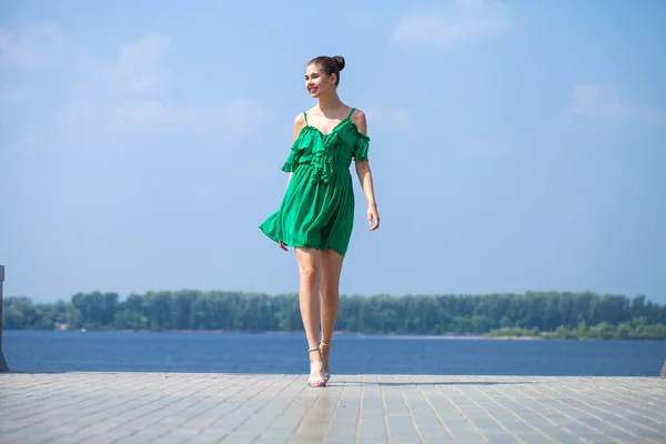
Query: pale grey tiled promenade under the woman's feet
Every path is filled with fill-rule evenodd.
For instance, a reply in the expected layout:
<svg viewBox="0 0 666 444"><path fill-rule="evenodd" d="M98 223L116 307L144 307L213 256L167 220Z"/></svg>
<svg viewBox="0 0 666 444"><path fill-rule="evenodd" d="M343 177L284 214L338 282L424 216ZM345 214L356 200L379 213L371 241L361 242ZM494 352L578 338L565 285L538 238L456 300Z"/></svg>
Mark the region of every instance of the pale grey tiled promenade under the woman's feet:
<svg viewBox="0 0 666 444"><path fill-rule="evenodd" d="M0 442L666 443L666 379L4 373Z"/></svg>

